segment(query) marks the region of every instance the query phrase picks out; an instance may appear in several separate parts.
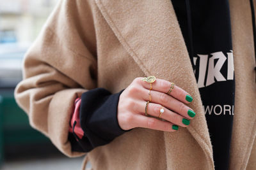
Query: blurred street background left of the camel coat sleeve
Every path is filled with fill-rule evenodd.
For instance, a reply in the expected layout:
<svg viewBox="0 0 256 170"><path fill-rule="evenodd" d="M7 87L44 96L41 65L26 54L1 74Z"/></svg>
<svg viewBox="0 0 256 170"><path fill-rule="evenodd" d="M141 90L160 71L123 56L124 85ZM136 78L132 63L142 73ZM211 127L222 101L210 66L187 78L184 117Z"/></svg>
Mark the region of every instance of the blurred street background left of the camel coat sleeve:
<svg viewBox="0 0 256 170"><path fill-rule="evenodd" d="M58 0L0 0L0 169L80 169L32 129L13 90L22 80L24 53Z"/></svg>

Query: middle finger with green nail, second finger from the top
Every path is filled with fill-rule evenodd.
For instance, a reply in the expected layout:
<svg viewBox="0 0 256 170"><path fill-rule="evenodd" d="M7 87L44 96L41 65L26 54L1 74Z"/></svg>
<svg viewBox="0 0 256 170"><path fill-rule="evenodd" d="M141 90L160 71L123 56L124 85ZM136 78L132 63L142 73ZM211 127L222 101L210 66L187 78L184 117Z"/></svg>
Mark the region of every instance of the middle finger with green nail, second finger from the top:
<svg viewBox="0 0 256 170"><path fill-rule="evenodd" d="M144 101L149 101L148 90L144 89L143 91L143 94L141 94L142 99ZM165 108L168 108L175 113L179 113L179 115L188 119L195 117L195 112L191 108L168 94L151 90L150 95L152 103L162 104Z"/></svg>

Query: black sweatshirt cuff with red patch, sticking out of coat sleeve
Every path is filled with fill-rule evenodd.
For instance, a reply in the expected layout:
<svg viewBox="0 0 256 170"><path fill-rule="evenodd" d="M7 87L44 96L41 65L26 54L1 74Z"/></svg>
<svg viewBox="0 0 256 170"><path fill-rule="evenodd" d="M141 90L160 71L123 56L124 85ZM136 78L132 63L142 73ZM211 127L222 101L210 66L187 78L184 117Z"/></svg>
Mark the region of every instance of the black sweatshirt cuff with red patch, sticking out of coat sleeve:
<svg viewBox="0 0 256 170"><path fill-rule="evenodd" d="M106 89L96 88L82 94L74 109L77 121L71 121L73 135L70 134L69 139L72 150L90 152L93 148L106 145L117 136L132 130L123 130L116 117L118 100L123 91L124 89L111 94Z"/></svg>

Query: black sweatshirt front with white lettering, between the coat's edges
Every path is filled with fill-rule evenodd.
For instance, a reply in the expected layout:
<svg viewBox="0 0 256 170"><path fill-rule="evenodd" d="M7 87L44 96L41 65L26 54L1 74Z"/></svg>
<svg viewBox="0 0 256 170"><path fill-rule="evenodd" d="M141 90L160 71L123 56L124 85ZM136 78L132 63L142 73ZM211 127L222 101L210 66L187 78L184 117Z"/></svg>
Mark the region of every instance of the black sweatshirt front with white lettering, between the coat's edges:
<svg viewBox="0 0 256 170"><path fill-rule="evenodd" d="M235 76L228 0L172 0L204 105L216 169L228 169Z"/></svg>

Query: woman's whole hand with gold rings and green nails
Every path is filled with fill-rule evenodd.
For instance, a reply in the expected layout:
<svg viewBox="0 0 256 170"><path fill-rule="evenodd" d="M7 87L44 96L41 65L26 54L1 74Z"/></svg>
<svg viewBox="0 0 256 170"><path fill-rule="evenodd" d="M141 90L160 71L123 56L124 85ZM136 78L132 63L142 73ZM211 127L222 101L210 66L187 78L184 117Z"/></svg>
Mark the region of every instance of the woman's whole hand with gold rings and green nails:
<svg viewBox="0 0 256 170"><path fill-rule="evenodd" d="M142 77L135 78L120 95L117 112L120 127L124 130L145 127L168 132L176 131L178 126L187 127L190 120L195 117L195 112L186 106L189 103L186 97L192 100L188 92L174 85L174 89L168 95L166 92L169 91L171 83L156 78L150 91L152 101L147 109L150 117L146 117L145 106L149 101L150 83L141 79ZM162 108L161 105L164 107L162 120L157 118Z"/></svg>

